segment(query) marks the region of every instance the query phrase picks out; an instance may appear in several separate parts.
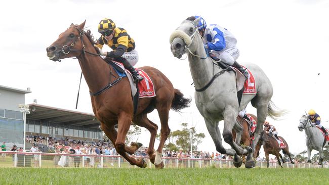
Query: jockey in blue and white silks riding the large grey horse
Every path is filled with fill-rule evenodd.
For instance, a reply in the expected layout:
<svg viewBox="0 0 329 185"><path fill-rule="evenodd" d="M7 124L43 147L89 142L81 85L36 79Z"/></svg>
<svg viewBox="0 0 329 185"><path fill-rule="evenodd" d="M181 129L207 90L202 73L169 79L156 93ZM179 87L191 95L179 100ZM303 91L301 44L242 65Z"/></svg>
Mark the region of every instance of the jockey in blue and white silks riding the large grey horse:
<svg viewBox="0 0 329 185"><path fill-rule="evenodd" d="M192 16L187 20L193 21L199 16ZM207 25L204 19L200 17L197 29L203 37L204 48L207 49L211 57L219 58L225 64L238 69L246 78L249 77L246 69L236 62L240 53L236 47L236 38L227 29L216 24Z"/></svg>

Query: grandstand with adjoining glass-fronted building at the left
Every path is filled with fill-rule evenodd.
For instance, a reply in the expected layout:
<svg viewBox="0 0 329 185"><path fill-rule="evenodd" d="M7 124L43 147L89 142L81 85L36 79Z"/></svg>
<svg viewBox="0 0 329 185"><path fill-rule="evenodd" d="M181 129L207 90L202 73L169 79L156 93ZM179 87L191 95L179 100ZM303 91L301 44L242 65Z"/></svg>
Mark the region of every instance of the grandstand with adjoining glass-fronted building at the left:
<svg viewBox="0 0 329 185"><path fill-rule="evenodd" d="M45 105L39 105L36 100L25 105L27 90L0 85L0 142L6 142L7 148L24 144L24 114L19 108L23 104L28 109L26 114L26 136L29 141L26 150L32 144L42 144L48 147L47 138L55 139L60 145L65 142L77 144L80 142L98 142L102 139L100 122L94 114L65 110ZM34 136L41 140L34 141Z"/></svg>

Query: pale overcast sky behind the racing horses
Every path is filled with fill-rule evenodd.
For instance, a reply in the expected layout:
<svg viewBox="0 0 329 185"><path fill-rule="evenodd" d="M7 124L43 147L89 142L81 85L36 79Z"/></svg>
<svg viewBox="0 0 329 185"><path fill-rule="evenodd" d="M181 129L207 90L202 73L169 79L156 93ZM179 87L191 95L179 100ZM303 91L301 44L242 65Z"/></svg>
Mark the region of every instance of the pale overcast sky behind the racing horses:
<svg viewBox="0 0 329 185"><path fill-rule="evenodd" d="M207 3L206 3L207 2ZM152 66L163 72L187 97L194 99L188 61L173 57L170 34L189 16L202 16L208 24L227 28L237 38L238 62L259 65L272 82L273 102L289 110L281 121L267 120L288 142L292 153L306 150L305 133L297 129L302 114L314 109L329 127L326 85L328 84L329 2L321 0L284 1L5 1L0 7L0 85L31 88L25 103L37 99L40 105L75 109L81 69L78 61L53 62L46 48L71 23L86 26L94 36L103 18L125 28L136 42L139 62L135 67ZM103 51L110 51L103 48ZM320 73L318 75L318 73ZM127 92L129 93L129 92ZM248 106L248 112L256 109ZM89 89L81 82L77 111L92 113ZM169 126L181 122L205 133L199 150L215 152L204 120L191 107L178 114L171 111ZM157 112L149 118L160 126ZM220 129L223 122L220 123ZM158 130L158 132L160 129ZM149 132L142 128L139 138L148 146ZM157 148L156 143L156 148ZM229 147L227 144L225 147Z"/></svg>

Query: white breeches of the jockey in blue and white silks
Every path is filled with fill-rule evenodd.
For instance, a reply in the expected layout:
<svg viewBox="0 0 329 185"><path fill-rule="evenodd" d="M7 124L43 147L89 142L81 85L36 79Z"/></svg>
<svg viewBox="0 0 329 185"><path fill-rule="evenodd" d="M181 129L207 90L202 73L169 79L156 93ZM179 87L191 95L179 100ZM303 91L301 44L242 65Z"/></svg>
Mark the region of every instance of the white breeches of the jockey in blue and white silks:
<svg viewBox="0 0 329 185"><path fill-rule="evenodd" d="M221 59L227 65L233 65L235 60L240 56L240 52L236 47L228 48L223 51L211 51L210 53L214 54L217 58Z"/></svg>

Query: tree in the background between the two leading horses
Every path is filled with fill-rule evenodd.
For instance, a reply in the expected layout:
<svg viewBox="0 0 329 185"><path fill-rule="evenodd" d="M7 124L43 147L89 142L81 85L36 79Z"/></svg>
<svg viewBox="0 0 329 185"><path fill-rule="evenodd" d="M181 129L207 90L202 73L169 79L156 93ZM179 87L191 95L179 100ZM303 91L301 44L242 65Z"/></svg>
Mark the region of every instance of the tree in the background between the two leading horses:
<svg viewBox="0 0 329 185"><path fill-rule="evenodd" d="M187 128L187 123L182 123L182 130L172 131L168 136L168 144L165 147L169 150L177 151L181 149L183 151L191 150L190 143L190 131L192 132L192 150L197 150L197 146L202 142L205 137L204 133L196 133L195 127ZM160 134L157 134L157 139L160 138Z"/></svg>

